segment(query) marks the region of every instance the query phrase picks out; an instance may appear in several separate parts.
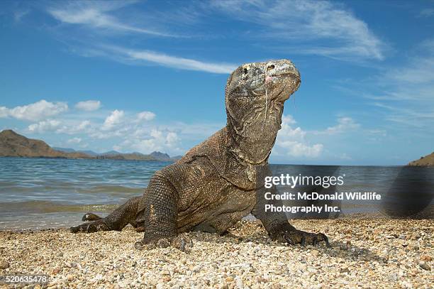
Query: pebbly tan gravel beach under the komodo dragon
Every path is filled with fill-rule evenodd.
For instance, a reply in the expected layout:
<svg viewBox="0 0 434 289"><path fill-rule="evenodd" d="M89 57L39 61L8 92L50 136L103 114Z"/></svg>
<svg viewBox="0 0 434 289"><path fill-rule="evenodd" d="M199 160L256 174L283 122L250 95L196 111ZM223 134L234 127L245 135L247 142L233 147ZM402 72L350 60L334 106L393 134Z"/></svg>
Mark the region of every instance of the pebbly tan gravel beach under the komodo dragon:
<svg viewBox="0 0 434 289"><path fill-rule="evenodd" d="M260 223L249 221L240 222L230 236L190 233L191 253L172 248L137 251L133 244L142 234L131 228L95 234L3 231L0 276L44 273L50 282L43 287L50 288L434 287L433 220L293 224L328 234L332 248L277 244L269 241Z"/></svg>

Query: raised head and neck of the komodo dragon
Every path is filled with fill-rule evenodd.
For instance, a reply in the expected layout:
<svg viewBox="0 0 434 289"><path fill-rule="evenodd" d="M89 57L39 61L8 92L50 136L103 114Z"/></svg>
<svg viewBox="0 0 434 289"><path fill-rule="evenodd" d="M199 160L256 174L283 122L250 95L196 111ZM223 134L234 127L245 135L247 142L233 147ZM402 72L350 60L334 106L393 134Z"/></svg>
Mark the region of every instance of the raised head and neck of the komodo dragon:
<svg viewBox="0 0 434 289"><path fill-rule="evenodd" d="M230 151L250 164L267 161L284 102L300 82L299 70L289 60L249 63L232 72L226 84Z"/></svg>

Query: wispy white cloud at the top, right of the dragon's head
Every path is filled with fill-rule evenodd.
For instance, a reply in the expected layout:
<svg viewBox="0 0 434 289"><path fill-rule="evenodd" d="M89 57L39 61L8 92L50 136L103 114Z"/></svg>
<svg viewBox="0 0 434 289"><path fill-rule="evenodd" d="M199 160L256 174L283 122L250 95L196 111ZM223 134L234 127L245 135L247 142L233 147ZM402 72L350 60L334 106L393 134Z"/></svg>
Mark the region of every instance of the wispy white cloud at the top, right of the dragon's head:
<svg viewBox="0 0 434 289"><path fill-rule="evenodd" d="M275 38L294 53L332 58L384 58L384 43L343 5L330 1L213 1L213 6L240 21L264 29L263 37ZM316 40L321 40L318 45ZM291 45L296 41L297 46ZM274 45L276 48L276 45Z"/></svg>

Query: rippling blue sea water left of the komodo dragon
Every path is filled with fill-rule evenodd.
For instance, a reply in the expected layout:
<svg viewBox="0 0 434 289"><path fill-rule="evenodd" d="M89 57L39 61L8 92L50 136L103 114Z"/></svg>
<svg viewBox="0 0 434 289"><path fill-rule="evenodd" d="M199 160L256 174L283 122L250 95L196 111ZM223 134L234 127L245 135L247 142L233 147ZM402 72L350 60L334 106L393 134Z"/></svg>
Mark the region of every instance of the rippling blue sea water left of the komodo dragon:
<svg viewBox="0 0 434 289"><path fill-rule="evenodd" d="M0 229L78 224L84 212L106 214L141 195L169 162L0 158Z"/></svg>

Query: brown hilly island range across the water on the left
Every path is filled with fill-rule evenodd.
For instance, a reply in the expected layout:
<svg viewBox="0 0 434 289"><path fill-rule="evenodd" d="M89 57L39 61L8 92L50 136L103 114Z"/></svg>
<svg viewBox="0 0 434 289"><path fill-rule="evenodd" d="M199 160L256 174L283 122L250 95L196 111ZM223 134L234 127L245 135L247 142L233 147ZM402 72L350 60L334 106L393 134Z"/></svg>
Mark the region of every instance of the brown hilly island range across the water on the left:
<svg viewBox="0 0 434 289"><path fill-rule="evenodd" d="M179 156L171 158L167 153L94 153L93 151L74 151L72 148L52 148L45 141L26 138L11 129L0 132L0 157L21 158L89 158L110 160L155 160L175 161Z"/></svg>

